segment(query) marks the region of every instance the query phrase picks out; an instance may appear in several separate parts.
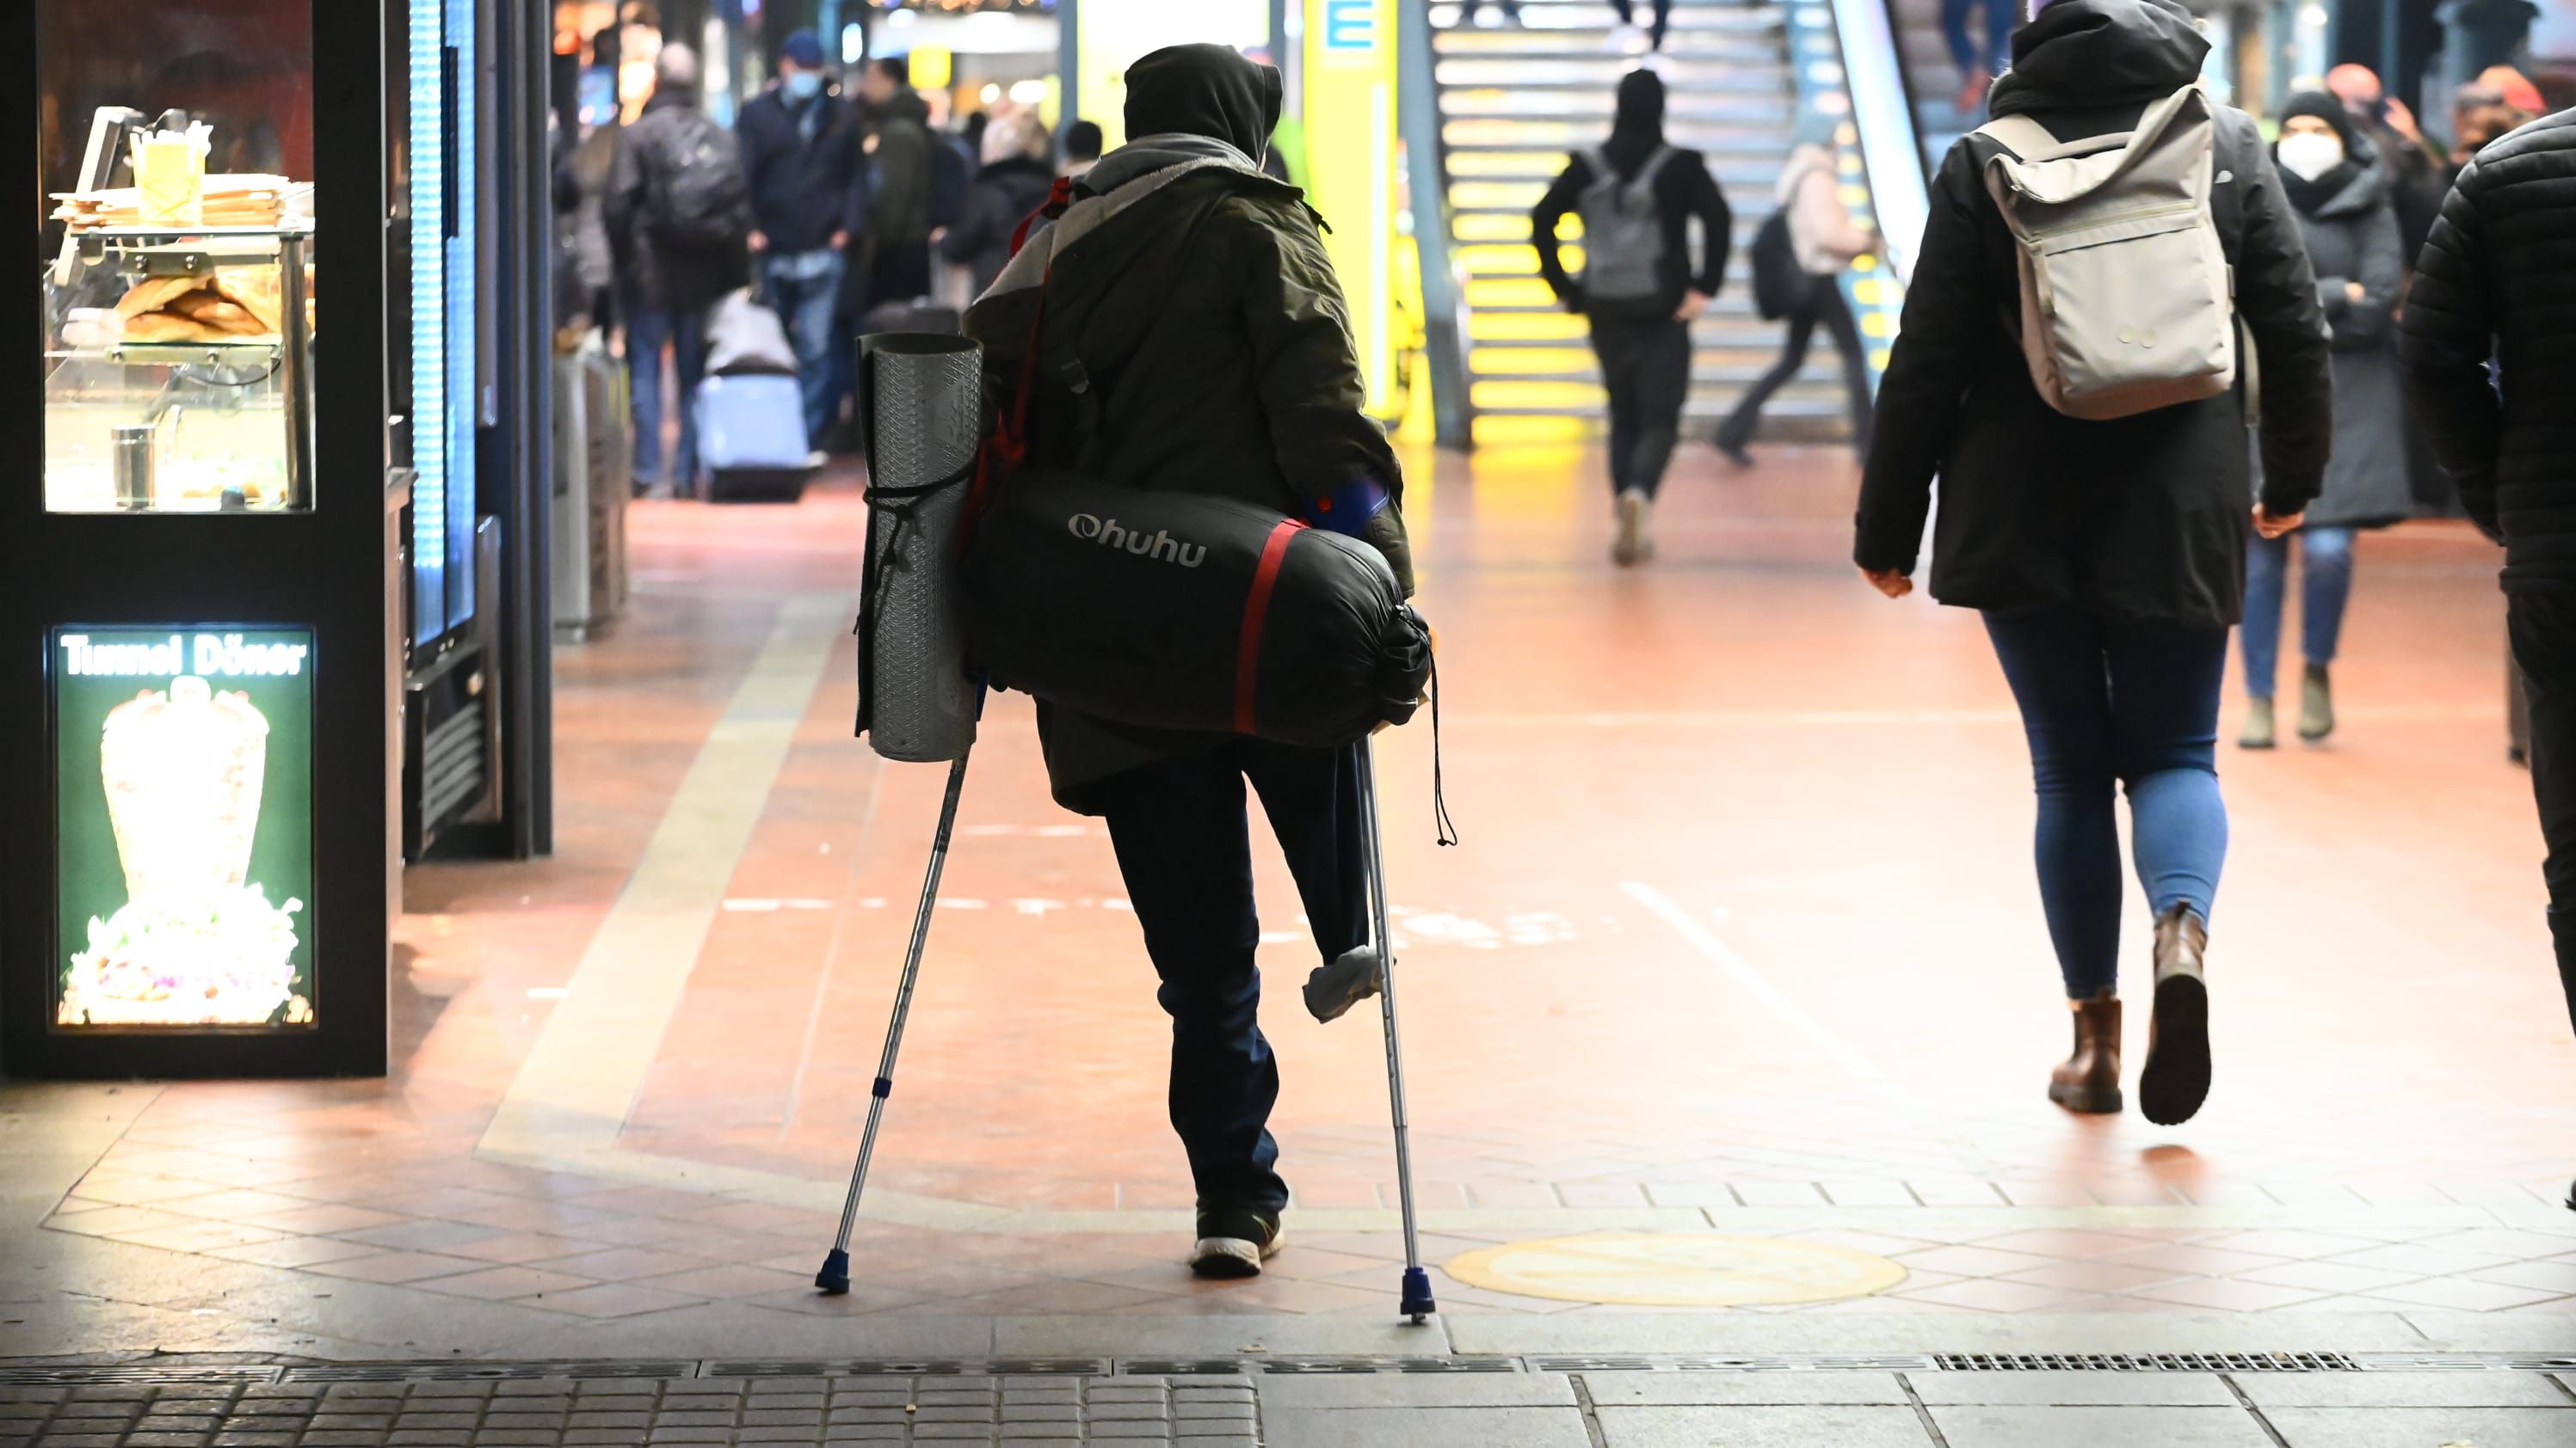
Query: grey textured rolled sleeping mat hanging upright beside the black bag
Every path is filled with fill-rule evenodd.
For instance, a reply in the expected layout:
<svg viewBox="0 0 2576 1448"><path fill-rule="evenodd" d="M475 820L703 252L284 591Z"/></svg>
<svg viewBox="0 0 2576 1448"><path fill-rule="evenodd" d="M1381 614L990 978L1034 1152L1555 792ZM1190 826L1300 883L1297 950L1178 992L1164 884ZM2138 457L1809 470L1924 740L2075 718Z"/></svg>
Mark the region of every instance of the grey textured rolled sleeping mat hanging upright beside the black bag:
<svg viewBox="0 0 2576 1448"><path fill-rule="evenodd" d="M984 425L984 348L958 335L860 338L868 392L868 572L858 729L878 755L948 763L974 745L958 528Z"/></svg>

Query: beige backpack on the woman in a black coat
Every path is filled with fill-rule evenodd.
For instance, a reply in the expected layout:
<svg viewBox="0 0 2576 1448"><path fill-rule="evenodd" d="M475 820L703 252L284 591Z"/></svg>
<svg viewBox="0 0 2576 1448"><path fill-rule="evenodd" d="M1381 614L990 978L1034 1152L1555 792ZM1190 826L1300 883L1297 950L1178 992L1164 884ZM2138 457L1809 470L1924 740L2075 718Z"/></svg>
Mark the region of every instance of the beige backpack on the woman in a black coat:
<svg viewBox="0 0 2576 1448"><path fill-rule="evenodd" d="M2105 420L2236 386L2236 283L2210 216L2215 121L2197 85L2136 131L2058 142L2002 116L1976 134L2004 147L1986 193L2020 242L2014 330L2040 399Z"/></svg>

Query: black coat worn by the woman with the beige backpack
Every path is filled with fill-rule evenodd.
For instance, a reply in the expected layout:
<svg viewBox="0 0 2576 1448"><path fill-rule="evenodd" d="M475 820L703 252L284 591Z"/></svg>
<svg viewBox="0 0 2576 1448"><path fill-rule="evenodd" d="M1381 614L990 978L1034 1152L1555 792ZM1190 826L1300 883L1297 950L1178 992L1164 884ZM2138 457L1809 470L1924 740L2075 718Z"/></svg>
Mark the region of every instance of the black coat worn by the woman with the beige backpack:
<svg viewBox="0 0 2576 1448"><path fill-rule="evenodd" d="M2125 131L2148 103L2190 85L2205 52L2172 0L2058 0L2012 36L2012 72L1991 106L2058 137ZM2233 624L2254 505L2244 386L2110 423L2040 402L2007 330L2020 296L2014 242L1981 180L1996 149L1986 137L1960 139L1932 183L1878 389L1852 557L1911 575L1937 474L1932 595L1942 603ZM2221 108L2215 149L2210 206L2262 363L2264 502L2298 513L2326 466L2326 322L2254 121Z"/></svg>

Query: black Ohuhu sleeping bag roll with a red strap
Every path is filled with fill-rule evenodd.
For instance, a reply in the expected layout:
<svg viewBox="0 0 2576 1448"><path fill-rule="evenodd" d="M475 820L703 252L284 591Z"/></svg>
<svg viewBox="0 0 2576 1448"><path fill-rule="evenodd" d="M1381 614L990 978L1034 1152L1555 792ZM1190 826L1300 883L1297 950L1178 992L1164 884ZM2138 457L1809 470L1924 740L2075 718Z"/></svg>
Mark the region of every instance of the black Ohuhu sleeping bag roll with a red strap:
<svg viewBox="0 0 2576 1448"><path fill-rule="evenodd" d="M1327 747L1412 719L1432 667L1368 544L1043 469L976 528L966 652L999 688L1113 724Z"/></svg>

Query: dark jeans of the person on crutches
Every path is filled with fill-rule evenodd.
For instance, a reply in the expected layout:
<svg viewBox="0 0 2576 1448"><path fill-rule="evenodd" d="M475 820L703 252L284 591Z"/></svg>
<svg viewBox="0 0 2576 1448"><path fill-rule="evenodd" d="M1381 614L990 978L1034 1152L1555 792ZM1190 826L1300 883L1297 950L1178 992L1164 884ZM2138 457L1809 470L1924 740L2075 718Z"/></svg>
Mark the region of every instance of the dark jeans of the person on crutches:
<svg viewBox="0 0 2576 1448"><path fill-rule="evenodd" d="M1360 794L1350 750L1234 739L1097 786L1146 956L1172 1015L1172 1131L1203 1208L1288 1206L1270 1139L1278 1059L1262 1038L1252 964L1252 830L1244 778L1262 796L1327 961L1368 938Z"/></svg>

